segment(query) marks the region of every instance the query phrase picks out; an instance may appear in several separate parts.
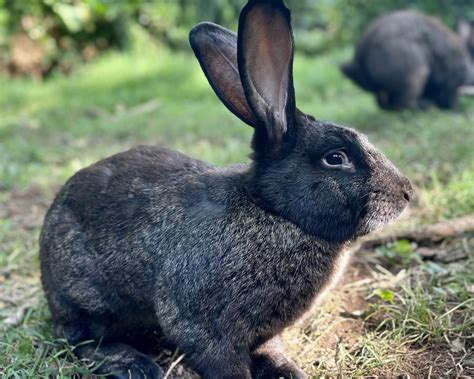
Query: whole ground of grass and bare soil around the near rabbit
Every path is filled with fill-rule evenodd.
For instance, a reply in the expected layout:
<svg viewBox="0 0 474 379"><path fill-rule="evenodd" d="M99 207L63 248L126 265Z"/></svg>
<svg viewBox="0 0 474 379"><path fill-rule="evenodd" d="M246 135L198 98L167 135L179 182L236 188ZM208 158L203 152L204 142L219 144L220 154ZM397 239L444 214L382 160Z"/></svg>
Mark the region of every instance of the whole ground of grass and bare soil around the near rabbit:
<svg viewBox="0 0 474 379"><path fill-rule="evenodd" d="M70 77L0 78L2 377L91 375L54 336L39 282L42 218L70 175L143 143L219 165L248 160L251 128L219 104L194 58L137 38L132 51ZM365 132L412 180L415 198L391 228L473 214L474 99L449 112L380 111L339 73L349 56L350 49L297 56L297 102ZM443 254L427 254L434 250ZM314 377L456 377L474 375L473 330L474 236L465 234L357 252L342 282L285 340ZM179 350L162 350L157 360L170 377L189 373Z"/></svg>

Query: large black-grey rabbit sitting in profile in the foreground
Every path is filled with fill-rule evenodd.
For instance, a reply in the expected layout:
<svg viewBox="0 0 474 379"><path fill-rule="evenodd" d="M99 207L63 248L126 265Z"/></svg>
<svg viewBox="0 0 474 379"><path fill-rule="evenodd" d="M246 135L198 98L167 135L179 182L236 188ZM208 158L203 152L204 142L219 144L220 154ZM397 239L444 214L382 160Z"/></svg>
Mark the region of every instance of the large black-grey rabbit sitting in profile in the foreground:
<svg viewBox="0 0 474 379"><path fill-rule="evenodd" d="M237 35L201 23L189 38L218 97L254 128L252 160L219 168L140 146L72 176L40 235L57 333L117 378L163 377L128 342L147 333L203 378L305 378L281 332L358 236L398 217L411 184L364 135L296 108L282 0L248 1Z"/></svg>

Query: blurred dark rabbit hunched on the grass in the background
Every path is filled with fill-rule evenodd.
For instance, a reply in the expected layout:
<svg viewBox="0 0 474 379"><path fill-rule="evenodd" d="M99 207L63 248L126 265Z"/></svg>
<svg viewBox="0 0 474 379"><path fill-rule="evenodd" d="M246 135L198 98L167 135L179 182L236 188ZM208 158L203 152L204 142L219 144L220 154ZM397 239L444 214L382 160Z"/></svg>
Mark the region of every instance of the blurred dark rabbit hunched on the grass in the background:
<svg viewBox="0 0 474 379"><path fill-rule="evenodd" d="M438 19L396 11L373 21L342 72L388 110L454 107L458 88L474 79L467 39Z"/></svg>

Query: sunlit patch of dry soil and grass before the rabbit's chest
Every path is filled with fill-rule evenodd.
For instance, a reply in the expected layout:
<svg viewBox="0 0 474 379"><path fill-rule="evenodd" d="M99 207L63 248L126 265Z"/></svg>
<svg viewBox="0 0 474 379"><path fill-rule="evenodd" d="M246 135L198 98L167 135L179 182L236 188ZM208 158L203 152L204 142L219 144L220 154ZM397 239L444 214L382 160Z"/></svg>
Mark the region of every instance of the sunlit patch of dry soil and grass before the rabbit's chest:
<svg viewBox="0 0 474 379"><path fill-rule="evenodd" d="M474 238L445 248L468 257L408 260L394 245L356 259L310 321L287 332L292 355L317 378L473 375Z"/></svg>

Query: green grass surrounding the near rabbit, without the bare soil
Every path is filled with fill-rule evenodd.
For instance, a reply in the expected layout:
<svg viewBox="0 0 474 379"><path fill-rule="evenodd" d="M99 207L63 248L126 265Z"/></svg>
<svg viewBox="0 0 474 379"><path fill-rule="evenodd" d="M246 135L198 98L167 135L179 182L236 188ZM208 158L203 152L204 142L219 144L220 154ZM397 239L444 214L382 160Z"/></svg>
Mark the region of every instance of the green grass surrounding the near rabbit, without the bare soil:
<svg viewBox="0 0 474 379"><path fill-rule="evenodd" d="M0 78L0 376L88 372L72 348L55 339L39 286L41 218L70 175L144 143L218 165L248 160L251 128L219 103L194 58L138 39L132 51L102 56L70 77L43 83ZM381 111L339 73L338 63L349 55L296 57L300 109L365 132L411 178L417 193L406 222L474 213L474 99L461 99L451 112ZM358 348L339 352L341 372L344 366L369 375L387 356L403 360L397 349L407 341L428 346L472 329L466 298L472 256L465 264L470 273L448 267L451 274L442 276L430 274L433 267L403 246L387 249L383 259L393 271L423 274L391 288L393 302L374 300Z"/></svg>

